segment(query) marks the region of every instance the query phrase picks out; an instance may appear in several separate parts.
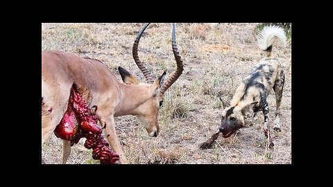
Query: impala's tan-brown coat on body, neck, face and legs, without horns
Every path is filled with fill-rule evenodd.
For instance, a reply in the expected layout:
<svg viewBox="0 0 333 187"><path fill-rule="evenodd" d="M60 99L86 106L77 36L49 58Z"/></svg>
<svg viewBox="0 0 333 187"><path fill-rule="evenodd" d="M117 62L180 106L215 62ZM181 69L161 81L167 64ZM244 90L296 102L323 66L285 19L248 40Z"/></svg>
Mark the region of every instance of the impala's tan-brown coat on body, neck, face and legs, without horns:
<svg viewBox="0 0 333 187"><path fill-rule="evenodd" d="M107 124L105 132L110 134L108 141L112 149L120 154L121 163L127 163L127 160L115 133L113 116L139 115L146 122L148 134L160 131L157 112L163 95L153 97L155 84L123 84L99 60L60 51L43 51L42 97L44 106L52 107L52 112L42 115L42 143L65 114L74 82L89 91L89 96L85 98L89 100L88 106L99 107L96 113Z"/></svg>

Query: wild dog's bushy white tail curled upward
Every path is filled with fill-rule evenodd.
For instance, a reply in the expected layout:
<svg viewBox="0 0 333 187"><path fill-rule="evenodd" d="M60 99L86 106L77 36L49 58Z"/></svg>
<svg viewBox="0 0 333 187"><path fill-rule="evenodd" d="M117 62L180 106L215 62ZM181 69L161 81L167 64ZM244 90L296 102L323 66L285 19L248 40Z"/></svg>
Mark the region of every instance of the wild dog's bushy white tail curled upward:
<svg viewBox="0 0 333 187"><path fill-rule="evenodd" d="M272 45L275 39L278 39L278 43L281 46L285 46L287 43L287 37L280 26L265 26L262 31L260 31L257 39L259 48L266 51L267 57L271 57Z"/></svg>

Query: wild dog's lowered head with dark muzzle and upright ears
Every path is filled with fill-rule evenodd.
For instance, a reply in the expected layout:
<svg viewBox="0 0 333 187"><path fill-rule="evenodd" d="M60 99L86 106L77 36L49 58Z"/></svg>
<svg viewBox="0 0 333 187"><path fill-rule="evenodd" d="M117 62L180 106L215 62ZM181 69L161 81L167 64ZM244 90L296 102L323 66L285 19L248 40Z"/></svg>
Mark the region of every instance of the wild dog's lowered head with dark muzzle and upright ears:
<svg viewBox="0 0 333 187"><path fill-rule="evenodd" d="M246 120L253 116L253 107L258 102L253 102L244 107L231 107L228 102L220 97L223 104L221 125L219 127L223 138L228 138L241 127L245 127Z"/></svg>

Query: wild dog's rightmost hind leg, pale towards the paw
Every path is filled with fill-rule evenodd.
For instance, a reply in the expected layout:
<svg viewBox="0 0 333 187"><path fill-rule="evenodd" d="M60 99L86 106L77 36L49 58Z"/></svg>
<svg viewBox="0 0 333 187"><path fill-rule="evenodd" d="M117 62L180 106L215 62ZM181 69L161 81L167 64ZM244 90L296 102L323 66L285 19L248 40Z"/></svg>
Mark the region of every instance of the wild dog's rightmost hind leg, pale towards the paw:
<svg viewBox="0 0 333 187"><path fill-rule="evenodd" d="M284 86L284 71L280 68L280 71L278 72L278 76L275 80L275 84L273 86L273 89L275 91L275 100L276 100L276 112L275 112L275 123L273 130L276 132L281 132L280 128L280 105L281 105L281 99L282 99L282 91Z"/></svg>

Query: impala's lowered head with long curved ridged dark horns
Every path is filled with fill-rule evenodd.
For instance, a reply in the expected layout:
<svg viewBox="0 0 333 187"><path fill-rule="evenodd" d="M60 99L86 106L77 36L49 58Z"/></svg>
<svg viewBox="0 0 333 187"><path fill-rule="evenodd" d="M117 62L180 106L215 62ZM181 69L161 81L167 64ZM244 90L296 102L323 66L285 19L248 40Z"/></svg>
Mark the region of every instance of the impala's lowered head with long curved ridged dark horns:
<svg viewBox="0 0 333 187"><path fill-rule="evenodd" d="M162 75L160 75L159 78L157 78L157 80L153 79L153 76L148 71L148 69L146 69L144 63L139 60L139 56L137 55L139 39L148 25L149 24L146 24L144 28L139 31L133 44L133 58L139 69L142 71L142 73L144 73L144 77L148 83L140 83L133 75L121 67L119 67L119 73L121 74L121 79L123 82L126 84L133 84L138 87L138 93L133 94L135 94L137 98L141 98L140 100L142 100L142 103L138 103L138 106L133 109L132 114L137 116L139 121L144 124L144 127L146 127L149 136L156 137L160 133L160 125L158 123L157 117L158 111L163 104L164 92L167 91L171 84L173 84L173 82L175 82L182 74L183 65L176 45L175 24L172 24L171 42L173 55L176 58L177 70L170 75L168 80L164 81L166 76L165 71L162 73Z"/></svg>

